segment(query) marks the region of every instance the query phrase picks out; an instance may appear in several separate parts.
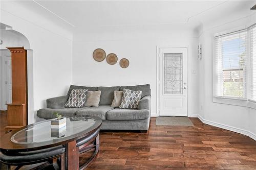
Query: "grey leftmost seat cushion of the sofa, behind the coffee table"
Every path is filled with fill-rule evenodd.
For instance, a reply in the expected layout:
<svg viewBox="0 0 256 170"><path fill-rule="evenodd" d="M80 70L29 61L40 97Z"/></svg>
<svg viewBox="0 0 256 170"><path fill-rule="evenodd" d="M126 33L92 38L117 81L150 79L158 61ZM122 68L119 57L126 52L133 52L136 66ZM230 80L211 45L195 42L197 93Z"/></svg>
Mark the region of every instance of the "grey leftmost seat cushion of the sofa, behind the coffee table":
<svg viewBox="0 0 256 170"><path fill-rule="evenodd" d="M54 112L57 112L61 114L62 116L74 116L75 112L78 110L81 110L82 108L61 108L61 109L40 109L37 111L37 116L40 118L50 119L50 118L56 118L56 116L53 114Z"/></svg>

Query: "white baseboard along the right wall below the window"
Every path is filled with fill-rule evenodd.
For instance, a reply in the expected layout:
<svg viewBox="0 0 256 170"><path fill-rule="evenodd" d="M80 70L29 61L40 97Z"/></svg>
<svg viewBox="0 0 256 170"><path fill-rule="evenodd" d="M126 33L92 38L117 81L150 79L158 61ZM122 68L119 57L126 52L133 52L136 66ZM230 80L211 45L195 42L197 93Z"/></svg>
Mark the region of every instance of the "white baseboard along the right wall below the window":
<svg viewBox="0 0 256 170"><path fill-rule="evenodd" d="M201 122L204 123L204 124L211 125L211 126L216 126L218 128L226 129L226 130L229 130L229 131L232 131L232 132L237 132L237 133L249 136L253 140L256 140L256 135L253 134L250 131L240 129L240 128L236 128L236 127L232 127L232 126L228 126L228 125L223 125L223 124L216 123L216 122L212 122L212 121L204 119L203 117L201 117L198 114L190 114L190 117L198 117L201 120Z"/></svg>

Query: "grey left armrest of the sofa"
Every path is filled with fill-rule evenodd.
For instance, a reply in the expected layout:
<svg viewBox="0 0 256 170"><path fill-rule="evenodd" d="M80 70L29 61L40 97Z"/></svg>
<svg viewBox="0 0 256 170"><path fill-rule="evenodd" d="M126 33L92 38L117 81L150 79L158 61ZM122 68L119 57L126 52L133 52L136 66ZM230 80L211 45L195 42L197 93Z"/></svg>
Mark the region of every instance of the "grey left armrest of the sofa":
<svg viewBox="0 0 256 170"><path fill-rule="evenodd" d="M69 99L69 95L62 95L56 98L50 98L46 100L46 107L51 109L64 108L64 105Z"/></svg>

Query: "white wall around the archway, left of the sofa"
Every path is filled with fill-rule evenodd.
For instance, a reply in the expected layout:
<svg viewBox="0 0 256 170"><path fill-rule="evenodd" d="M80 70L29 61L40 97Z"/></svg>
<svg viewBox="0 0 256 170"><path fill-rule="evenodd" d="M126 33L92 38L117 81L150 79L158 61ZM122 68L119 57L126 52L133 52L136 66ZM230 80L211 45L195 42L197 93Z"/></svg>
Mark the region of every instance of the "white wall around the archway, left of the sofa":
<svg viewBox="0 0 256 170"><path fill-rule="evenodd" d="M72 33L17 2L1 1L1 22L24 34L33 50L31 124L47 98L66 94L72 84Z"/></svg>

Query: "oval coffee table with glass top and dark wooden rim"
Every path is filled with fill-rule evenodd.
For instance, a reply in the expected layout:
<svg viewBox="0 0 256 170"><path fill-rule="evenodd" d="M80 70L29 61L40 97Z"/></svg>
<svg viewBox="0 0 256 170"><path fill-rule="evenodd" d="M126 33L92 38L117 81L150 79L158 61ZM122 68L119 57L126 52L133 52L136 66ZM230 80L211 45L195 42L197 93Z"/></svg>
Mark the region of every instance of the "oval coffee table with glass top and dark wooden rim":
<svg viewBox="0 0 256 170"><path fill-rule="evenodd" d="M79 153L94 148L93 157L80 169L87 167L99 151L99 128L102 120L95 116L67 117L66 127L51 128L51 120L28 125L1 137L1 151L16 153L66 145L68 169L79 169ZM89 144L92 143L92 144Z"/></svg>

